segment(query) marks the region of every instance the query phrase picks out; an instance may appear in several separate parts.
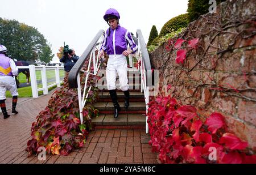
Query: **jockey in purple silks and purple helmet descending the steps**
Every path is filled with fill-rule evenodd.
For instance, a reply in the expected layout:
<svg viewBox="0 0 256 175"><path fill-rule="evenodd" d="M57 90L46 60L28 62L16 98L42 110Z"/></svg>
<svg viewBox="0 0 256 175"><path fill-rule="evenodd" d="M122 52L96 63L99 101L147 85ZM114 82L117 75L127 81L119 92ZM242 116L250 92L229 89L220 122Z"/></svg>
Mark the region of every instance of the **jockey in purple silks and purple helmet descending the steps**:
<svg viewBox="0 0 256 175"><path fill-rule="evenodd" d="M118 104L117 92L115 91L117 74L119 76L120 88L125 94L125 104L123 104L123 107L127 109L129 106L130 93L126 56L134 53L138 49L138 46L131 37L131 33L119 25L120 15L117 10L109 8L103 18L108 23L109 29L106 31L102 43L100 58L104 57L104 52L109 56L106 68L106 80L114 105L114 118L117 118L118 112L121 110ZM127 48L127 44L130 45L130 48Z"/></svg>

